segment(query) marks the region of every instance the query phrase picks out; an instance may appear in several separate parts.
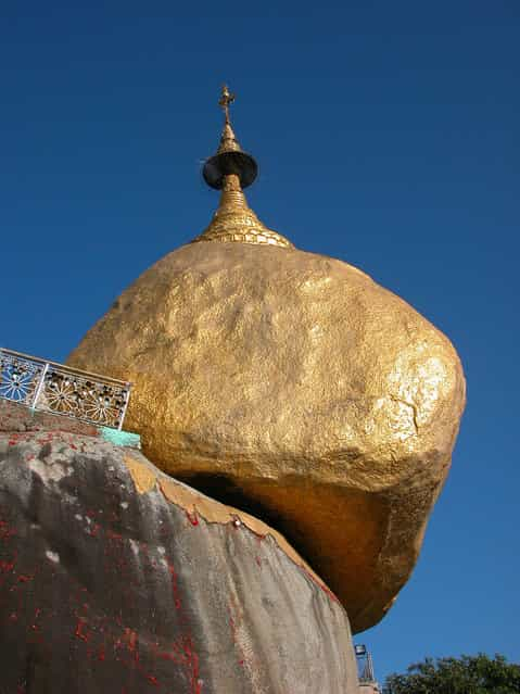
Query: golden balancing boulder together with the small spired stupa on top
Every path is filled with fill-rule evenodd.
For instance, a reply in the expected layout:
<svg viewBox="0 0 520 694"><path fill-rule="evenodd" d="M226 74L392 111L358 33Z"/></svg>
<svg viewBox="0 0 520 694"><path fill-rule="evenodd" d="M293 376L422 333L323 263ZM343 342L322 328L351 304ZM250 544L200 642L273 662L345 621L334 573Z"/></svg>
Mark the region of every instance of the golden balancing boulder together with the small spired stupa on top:
<svg viewBox="0 0 520 694"><path fill-rule="evenodd" d="M164 471L282 532L377 623L417 560L465 405L448 339L249 207L256 178L223 90L210 226L139 277L68 363L134 383L127 426Z"/></svg>

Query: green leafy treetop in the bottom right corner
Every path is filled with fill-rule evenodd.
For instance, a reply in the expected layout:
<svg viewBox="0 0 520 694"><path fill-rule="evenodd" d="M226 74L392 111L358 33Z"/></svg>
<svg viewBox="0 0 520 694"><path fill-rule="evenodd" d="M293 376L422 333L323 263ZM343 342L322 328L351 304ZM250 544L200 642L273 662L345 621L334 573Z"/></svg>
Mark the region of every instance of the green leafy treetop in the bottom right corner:
<svg viewBox="0 0 520 694"><path fill-rule="evenodd" d="M502 655L427 658L406 674L391 674L383 694L520 694L520 666Z"/></svg>

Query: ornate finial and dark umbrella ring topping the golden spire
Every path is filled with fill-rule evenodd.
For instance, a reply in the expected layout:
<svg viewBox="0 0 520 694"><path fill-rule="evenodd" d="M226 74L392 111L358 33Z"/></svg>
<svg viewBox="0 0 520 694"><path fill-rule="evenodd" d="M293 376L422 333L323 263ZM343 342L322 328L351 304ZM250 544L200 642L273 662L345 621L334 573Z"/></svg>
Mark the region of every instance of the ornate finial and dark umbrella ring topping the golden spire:
<svg viewBox="0 0 520 694"><path fill-rule="evenodd" d="M227 176L238 176L242 188L246 188L251 186L258 174L258 165L254 157L242 150L231 127L229 105L233 101L234 94L224 85L218 101L224 111L224 128L220 143L216 154L206 160L202 169L206 184L216 190L224 188Z"/></svg>

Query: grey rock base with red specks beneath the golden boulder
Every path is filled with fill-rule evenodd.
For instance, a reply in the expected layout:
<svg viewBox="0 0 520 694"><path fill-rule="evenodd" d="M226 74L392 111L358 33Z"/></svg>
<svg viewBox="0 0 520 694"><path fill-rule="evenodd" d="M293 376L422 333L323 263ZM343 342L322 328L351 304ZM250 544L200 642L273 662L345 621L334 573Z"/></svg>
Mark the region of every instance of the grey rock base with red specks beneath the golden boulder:
<svg viewBox="0 0 520 694"><path fill-rule="evenodd" d="M347 616L282 537L73 432L0 433L0 643L10 694L357 692Z"/></svg>

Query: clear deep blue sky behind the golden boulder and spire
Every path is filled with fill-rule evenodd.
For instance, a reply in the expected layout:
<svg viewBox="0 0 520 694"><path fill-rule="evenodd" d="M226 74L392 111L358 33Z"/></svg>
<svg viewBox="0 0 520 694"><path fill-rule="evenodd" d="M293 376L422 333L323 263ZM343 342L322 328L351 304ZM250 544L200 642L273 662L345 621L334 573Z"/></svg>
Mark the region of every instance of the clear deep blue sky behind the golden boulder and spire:
<svg viewBox="0 0 520 694"><path fill-rule="evenodd" d="M250 202L444 330L468 378L421 559L358 641L520 660L520 4L2 2L0 343L64 359L217 202L227 80Z"/></svg>

